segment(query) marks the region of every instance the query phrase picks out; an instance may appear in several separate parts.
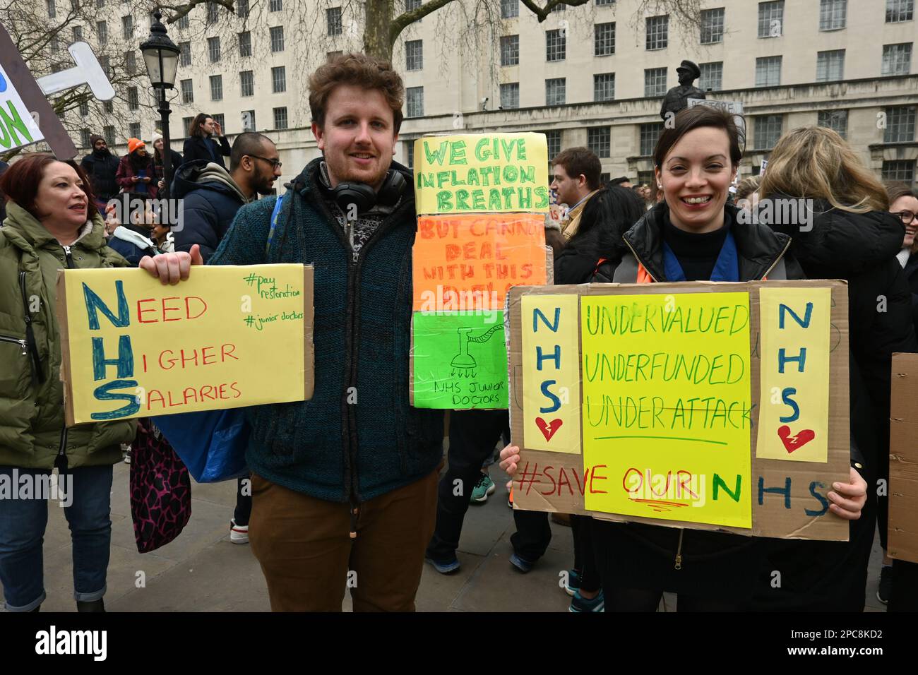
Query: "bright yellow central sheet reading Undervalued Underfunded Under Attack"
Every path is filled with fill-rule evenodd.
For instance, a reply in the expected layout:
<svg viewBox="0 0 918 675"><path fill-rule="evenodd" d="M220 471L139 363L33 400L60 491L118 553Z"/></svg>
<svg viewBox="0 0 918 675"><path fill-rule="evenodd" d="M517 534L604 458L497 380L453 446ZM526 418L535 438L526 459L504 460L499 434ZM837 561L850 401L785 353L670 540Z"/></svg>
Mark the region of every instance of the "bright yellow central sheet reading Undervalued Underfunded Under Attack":
<svg viewBox="0 0 918 675"><path fill-rule="evenodd" d="M580 303L587 510L752 527L749 294Z"/></svg>

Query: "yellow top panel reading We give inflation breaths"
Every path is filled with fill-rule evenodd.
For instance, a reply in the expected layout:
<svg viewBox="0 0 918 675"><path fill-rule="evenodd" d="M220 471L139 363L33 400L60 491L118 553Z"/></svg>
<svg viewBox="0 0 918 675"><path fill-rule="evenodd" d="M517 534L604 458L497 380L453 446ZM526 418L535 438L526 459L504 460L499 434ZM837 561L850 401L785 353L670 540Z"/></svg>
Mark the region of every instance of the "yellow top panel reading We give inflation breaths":
<svg viewBox="0 0 918 675"><path fill-rule="evenodd" d="M548 144L531 132L421 138L414 181L418 215L547 212Z"/></svg>

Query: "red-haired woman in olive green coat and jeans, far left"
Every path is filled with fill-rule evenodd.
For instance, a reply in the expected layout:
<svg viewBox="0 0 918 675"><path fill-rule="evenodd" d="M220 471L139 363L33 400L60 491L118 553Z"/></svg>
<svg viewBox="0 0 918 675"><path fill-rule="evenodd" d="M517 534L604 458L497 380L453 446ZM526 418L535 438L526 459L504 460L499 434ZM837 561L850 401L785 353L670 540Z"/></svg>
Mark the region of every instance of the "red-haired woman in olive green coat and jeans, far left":
<svg viewBox="0 0 918 675"><path fill-rule="evenodd" d="M129 421L63 420L61 338L54 318L62 267L121 267L106 246L89 182L73 162L27 154L0 177L6 220L0 229L0 474L36 478L57 467L71 477L74 591L80 611L104 611L111 539L112 465L134 440ZM31 612L44 602L41 546L47 501L0 500L0 583L6 609Z"/></svg>

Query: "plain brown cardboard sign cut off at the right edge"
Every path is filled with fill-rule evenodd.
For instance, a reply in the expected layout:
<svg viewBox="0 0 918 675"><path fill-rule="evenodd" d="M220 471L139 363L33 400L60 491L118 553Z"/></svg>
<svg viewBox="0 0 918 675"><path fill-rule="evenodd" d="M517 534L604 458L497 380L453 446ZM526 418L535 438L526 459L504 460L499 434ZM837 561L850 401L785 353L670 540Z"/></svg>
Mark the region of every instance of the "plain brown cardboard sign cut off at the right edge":
<svg viewBox="0 0 918 675"><path fill-rule="evenodd" d="M918 563L918 354L892 354L890 557Z"/></svg>

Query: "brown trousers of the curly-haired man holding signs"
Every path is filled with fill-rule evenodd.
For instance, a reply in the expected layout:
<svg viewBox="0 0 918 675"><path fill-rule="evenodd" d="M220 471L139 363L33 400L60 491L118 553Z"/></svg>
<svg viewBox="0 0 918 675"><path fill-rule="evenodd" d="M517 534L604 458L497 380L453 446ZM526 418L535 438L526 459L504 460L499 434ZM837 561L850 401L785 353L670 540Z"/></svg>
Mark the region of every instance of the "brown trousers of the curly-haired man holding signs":
<svg viewBox="0 0 918 675"><path fill-rule="evenodd" d="M438 471L351 506L282 488L252 474L249 541L273 612L413 612L437 513Z"/></svg>

